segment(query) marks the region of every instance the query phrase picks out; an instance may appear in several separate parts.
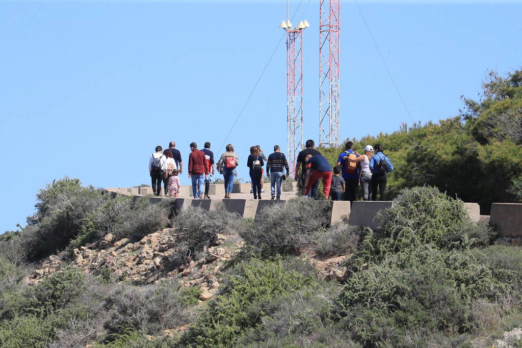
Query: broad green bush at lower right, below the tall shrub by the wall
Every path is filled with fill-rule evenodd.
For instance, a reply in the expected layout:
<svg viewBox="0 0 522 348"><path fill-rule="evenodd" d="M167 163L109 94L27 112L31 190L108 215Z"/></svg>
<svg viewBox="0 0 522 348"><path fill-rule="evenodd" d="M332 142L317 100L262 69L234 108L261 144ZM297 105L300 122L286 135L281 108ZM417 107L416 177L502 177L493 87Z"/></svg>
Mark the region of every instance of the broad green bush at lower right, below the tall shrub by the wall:
<svg viewBox="0 0 522 348"><path fill-rule="evenodd" d="M470 332L475 299L497 301L513 291L514 272L483 263L483 257L476 250L429 246L390 254L351 275L338 315L365 345L406 345L411 332Z"/></svg>

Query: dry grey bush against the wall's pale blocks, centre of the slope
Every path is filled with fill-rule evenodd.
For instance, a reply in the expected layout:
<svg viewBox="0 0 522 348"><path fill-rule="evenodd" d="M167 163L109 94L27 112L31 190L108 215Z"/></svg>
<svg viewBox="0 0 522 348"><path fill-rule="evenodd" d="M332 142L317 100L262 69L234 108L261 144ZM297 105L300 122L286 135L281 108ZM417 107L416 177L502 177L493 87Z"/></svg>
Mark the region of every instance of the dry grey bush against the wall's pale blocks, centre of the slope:
<svg viewBox="0 0 522 348"><path fill-rule="evenodd" d="M294 198L264 208L254 227L240 232L240 236L265 255L294 254L313 248L328 224L328 202Z"/></svg>

